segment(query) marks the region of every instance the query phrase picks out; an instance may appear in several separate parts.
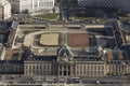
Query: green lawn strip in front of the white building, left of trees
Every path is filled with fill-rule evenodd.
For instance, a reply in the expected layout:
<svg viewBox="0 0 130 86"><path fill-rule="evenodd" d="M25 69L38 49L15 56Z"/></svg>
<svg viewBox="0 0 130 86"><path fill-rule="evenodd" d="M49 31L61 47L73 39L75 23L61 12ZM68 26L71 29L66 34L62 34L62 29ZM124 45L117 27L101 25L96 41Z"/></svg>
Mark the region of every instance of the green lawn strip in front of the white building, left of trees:
<svg viewBox="0 0 130 86"><path fill-rule="evenodd" d="M50 13L50 14L43 14L43 15L36 15L35 17L42 18L42 19L55 19L57 18L57 13Z"/></svg>

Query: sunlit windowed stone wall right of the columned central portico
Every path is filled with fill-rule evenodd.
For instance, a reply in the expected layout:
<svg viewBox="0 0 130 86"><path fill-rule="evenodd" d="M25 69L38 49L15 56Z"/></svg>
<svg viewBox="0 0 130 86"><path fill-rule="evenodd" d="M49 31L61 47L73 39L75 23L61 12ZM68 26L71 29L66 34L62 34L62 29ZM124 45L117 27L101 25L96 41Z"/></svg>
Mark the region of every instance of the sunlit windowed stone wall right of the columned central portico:
<svg viewBox="0 0 130 86"><path fill-rule="evenodd" d="M76 66L76 75L82 77L105 76L105 66L103 61L81 61Z"/></svg>

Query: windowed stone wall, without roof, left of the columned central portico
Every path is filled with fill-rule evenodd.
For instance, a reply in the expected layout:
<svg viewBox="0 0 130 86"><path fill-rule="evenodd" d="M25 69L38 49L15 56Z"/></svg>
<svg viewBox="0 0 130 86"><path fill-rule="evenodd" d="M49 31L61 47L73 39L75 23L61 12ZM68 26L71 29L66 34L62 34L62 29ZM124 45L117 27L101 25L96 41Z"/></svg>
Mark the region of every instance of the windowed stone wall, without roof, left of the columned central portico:
<svg viewBox="0 0 130 86"><path fill-rule="evenodd" d="M24 75L57 75L56 64L52 61L24 61Z"/></svg>

